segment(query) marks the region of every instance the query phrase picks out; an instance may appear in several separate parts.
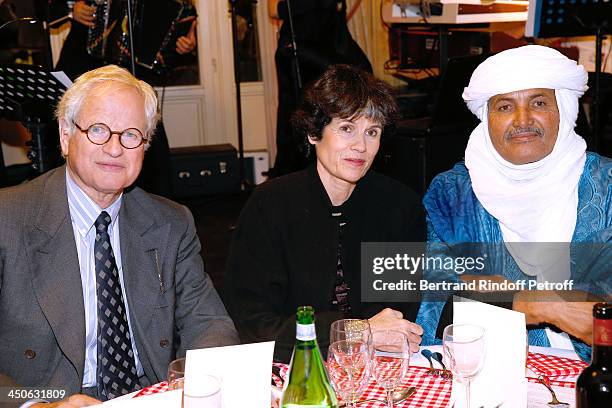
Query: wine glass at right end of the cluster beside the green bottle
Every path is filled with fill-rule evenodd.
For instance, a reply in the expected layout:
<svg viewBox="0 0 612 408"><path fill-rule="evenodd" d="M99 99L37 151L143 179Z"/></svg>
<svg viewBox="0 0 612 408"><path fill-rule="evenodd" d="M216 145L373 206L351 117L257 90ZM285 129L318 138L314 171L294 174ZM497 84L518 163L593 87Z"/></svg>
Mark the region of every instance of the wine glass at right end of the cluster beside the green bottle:
<svg viewBox="0 0 612 408"><path fill-rule="evenodd" d="M376 382L387 394L387 407L393 408L393 392L406 376L410 363L408 338L396 330L375 330L372 332L372 345L372 370Z"/></svg>

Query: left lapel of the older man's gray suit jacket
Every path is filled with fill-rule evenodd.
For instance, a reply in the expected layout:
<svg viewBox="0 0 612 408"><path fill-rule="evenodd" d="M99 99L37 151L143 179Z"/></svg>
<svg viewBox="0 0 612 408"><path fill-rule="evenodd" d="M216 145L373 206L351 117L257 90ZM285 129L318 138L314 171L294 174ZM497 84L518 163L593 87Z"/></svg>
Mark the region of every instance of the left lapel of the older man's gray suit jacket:
<svg viewBox="0 0 612 408"><path fill-rule="evenodd" d="M83 287L64 168L53 171L44 185L28 241L36 298L60 349L82 381L85 360Z"/></svg>

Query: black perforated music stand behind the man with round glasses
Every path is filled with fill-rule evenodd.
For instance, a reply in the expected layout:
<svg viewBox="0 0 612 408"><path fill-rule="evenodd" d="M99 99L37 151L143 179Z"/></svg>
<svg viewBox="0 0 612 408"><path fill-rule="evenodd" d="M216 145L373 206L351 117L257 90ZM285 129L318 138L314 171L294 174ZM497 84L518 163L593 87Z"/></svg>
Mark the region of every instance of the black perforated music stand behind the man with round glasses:
<svg viewBox="0 0 612 408"><path fill-rule="evenodd" d="M66 87L42 67L23 64L0 65L0 118L17 120L32 134L28 158L42 174L59 164L57 146L49 146L47 133L53 107Z"/></svg>

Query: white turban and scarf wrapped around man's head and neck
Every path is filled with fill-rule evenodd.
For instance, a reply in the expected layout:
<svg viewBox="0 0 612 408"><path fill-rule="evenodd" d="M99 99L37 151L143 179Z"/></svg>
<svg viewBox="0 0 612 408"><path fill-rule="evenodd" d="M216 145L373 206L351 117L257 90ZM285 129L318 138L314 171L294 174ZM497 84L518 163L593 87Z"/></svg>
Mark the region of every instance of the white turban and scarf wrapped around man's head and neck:
<svg viewBox="0 0 612 408"><path fill-rule="evenodd" d="M574 127L587 78L581 65L560 52L528 45L485 60L463 92L468 108L481 120L465 151L474 193L499 220L506 247L521 270L542 280L569 277L569 255L560 254L559 245L547 248L529 243L572 240L578 183L586 159L586 143ZM515 165L501 157L491 142L487 102L494 95L532 88L555 90L559 133L548 156Z"/></svg>

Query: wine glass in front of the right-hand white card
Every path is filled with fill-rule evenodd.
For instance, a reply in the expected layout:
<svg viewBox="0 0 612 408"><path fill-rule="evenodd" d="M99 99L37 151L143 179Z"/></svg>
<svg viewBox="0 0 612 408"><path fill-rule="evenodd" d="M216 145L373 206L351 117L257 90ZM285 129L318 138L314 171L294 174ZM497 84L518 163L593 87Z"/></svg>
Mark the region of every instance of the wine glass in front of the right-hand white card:
<svg viewBox="0 0 612 408"><path fill-rule="evenodd" d="M465 384L466 408L470 408L470 383L482 369L485 329L476 324L451 324L444 328L444 357L454 378Z"/></svg>

